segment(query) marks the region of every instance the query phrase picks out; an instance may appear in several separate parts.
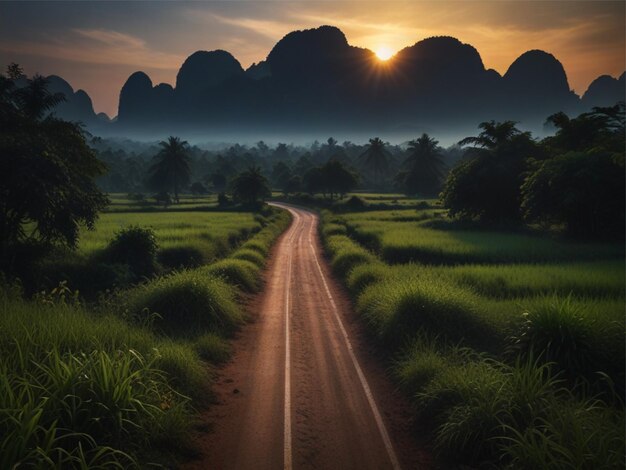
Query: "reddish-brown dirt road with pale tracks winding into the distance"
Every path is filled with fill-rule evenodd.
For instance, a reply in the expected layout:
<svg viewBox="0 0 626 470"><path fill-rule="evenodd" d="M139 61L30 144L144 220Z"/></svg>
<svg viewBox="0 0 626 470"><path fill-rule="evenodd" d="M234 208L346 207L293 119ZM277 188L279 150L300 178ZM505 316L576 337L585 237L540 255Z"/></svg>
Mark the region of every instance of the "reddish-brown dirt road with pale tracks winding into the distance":
<svg viewBox="0 0 626 470"><path fill-rule="evenodd" d="M279 205L279 204L277 204ZM188 468L399 469L420 466L408 409L373 359L332 278L314 213L281 205L255 321L221 371L212 430Z"/></svg>

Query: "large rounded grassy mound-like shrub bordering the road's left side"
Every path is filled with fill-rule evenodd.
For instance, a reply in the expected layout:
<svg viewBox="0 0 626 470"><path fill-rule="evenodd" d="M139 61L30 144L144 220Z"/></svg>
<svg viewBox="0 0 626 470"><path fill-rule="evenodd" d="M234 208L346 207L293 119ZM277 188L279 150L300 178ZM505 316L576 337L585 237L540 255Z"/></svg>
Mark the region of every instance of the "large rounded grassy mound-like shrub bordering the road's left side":
<svg viewBox="0 0 626 470"><path fill-rule="evenodd" d="M162 277L127 295L129 311L135 315L157 313L160 318L155 323L164 332L230 333L243 320L232 289L199 271Z"/></svg>

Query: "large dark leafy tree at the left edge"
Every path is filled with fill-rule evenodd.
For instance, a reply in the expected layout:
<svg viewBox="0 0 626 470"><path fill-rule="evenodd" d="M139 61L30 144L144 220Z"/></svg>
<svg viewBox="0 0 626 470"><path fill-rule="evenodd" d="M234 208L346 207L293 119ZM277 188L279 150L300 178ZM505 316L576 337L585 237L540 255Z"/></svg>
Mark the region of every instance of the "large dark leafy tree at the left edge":
<svg viewBox="0 0 626 470"><path fill-rule="evenodd" d="M9 75L14 76L14 70ZM80 226L93 227L107 197L95 184L105 168L81 127L49 114L62 97L35 76L17 88L0 76L0 240L2 263L11 246L34 238L75 247Z"/></svg>

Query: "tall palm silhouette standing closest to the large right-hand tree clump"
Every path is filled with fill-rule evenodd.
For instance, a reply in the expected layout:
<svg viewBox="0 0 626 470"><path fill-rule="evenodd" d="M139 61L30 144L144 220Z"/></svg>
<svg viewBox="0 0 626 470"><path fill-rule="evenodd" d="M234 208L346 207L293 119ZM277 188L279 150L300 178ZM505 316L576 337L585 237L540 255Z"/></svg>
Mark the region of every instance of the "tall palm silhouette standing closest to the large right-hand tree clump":
<svg viewBox="0 0 626 470"><path fill-rule="evenodd" d="M446 167L439 141L422 134L409 142L408 154L404 161L409 167L404 178L407 192L429 196L437 194Z"/></svg>

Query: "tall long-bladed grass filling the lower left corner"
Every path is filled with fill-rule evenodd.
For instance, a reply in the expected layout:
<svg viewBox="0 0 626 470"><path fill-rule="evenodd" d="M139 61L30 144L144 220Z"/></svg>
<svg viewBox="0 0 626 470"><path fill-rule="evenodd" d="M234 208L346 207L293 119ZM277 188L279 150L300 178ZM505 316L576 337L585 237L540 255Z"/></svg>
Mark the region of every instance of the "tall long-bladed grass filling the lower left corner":
<svg viewBox="0 0 626 470"><path fill-rule="evenodd" d="M190 402L164 345L117 317L3 295L0 467L131 468L148 447L184 446ZM194 354L175 365L202 367Z"/></svg>

